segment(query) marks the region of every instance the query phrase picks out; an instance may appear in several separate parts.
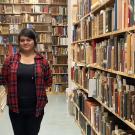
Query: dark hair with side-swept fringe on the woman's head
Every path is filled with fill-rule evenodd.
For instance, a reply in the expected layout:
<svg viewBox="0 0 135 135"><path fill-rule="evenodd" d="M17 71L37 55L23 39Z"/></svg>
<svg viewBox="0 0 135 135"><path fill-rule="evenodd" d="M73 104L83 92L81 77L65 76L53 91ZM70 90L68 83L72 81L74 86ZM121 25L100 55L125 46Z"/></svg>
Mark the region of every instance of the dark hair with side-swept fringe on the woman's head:
<svg viewBox="0 0 135 135"><path fill-rule="evenodd" d="M18 41L20 41L21 36L25 36L33 39L35 46L37 45L37 40L36 40L37 36L36 36L36 32L33 29L23 28L18 35Z"/></svg>

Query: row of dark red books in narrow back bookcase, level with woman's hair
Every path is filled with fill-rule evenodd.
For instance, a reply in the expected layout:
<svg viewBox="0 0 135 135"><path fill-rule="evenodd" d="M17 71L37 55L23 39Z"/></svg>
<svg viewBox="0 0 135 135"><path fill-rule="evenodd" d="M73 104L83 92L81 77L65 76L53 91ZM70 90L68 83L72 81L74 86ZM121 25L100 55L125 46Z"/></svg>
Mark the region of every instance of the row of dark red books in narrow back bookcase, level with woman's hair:
<svg viewBox="0 0 135 135"><path fill-rule="evenodd" d="M52 33L57 36L67 36L67 27L54 27Z"/></svg>

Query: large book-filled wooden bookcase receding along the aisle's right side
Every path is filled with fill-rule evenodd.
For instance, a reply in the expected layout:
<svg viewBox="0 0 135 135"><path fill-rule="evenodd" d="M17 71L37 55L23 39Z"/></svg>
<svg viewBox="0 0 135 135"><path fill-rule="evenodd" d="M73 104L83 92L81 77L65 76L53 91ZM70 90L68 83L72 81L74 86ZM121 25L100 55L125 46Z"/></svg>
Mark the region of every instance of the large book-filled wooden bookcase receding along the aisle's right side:
<svg viewBox="0 0 135 135"><path fill-rule="evenodd" d="M135 134L134 6L128 0L72 4L70 74L75 119L86 135Z"/></svg>

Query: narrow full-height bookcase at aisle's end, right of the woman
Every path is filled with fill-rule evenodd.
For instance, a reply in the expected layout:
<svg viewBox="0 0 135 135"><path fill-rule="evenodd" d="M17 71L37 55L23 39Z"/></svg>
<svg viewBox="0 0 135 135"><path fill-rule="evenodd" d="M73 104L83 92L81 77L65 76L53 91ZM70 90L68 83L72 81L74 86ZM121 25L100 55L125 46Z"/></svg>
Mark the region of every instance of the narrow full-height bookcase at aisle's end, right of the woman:
<svg viewBox="0 0 135 135"><path fill-rule="evenodd" d="M65 92L68 86L67 1L53 0L52 3L52 91Z"/></svg>

